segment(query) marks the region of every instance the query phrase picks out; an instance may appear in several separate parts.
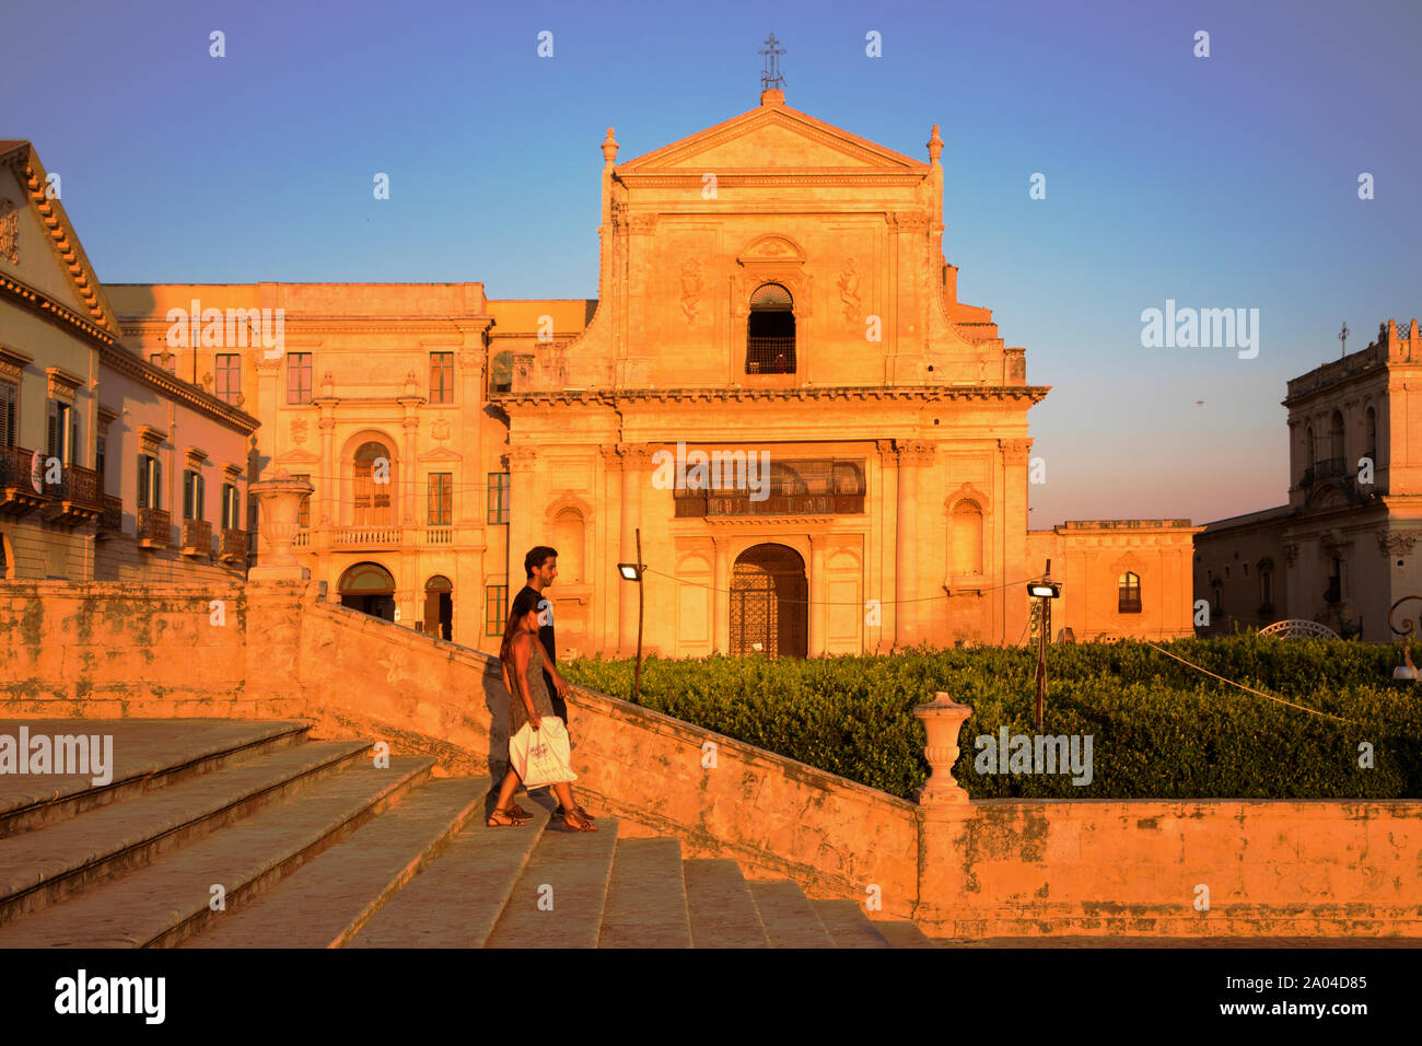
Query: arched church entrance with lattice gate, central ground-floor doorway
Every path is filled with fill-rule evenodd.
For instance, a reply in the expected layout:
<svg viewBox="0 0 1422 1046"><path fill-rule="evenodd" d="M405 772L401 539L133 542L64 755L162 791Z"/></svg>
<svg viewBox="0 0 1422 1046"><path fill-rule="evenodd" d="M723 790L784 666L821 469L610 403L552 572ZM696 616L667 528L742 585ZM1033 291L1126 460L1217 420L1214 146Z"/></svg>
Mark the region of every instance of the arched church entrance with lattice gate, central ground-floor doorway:
<svg viewBox="0 0 1422 1046"><path fill-rule="evenodd" d="M754 545L731 575L731 653L803 657L809 653L805 559L785 545Z"/></svg>

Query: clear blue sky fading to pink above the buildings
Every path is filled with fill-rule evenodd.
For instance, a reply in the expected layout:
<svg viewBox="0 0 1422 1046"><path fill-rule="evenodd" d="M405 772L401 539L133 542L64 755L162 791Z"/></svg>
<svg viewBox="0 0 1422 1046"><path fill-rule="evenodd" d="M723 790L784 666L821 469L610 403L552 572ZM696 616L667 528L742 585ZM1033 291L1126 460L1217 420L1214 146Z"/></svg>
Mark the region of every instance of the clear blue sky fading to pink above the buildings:
<svg viewBox="0 0 1422 1046"><path fill-rule="evenodd" d="M754 108L775 31L789 105L921 159L941 125L960 297L1052 386L1035 528L1284 502L1287 379L1344 320L1357 350L1422 313L1418 0L50 0L0 24L0 138L63 176L104 282L491 297L596 296L607 127L630 159ZM1258 309L1258 356L1142 347L1166 299Z"/></svg>

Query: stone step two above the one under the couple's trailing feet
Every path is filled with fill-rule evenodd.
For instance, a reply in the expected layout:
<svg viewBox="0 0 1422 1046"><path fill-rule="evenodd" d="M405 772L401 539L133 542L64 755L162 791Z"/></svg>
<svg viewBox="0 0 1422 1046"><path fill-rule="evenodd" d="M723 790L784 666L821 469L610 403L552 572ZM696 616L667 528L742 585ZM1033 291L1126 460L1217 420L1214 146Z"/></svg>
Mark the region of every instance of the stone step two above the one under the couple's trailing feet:
<svg viewBox="0 0 1422 1046"><path fill-rule="evenodd" d="M432 767L408 757L385 770L357 763L146 868L0 926L0 948L179 944L222 915L209 908L215 885L228 908L240 908L422 784Z"/></svg>

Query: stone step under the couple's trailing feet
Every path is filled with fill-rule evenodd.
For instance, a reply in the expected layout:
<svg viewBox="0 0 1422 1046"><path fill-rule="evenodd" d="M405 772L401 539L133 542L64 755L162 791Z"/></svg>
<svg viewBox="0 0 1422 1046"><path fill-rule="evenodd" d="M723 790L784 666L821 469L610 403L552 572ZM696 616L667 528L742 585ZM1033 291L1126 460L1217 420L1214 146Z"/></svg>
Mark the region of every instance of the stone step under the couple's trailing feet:
<svg viewBox="0 0 1422 1046"><path fill-rule="evenodd" d="M538 801L522 803L530 814L526 825L491 828L492 805L485 798L449 845L346 946L482 948L549 820Z"/></svg>

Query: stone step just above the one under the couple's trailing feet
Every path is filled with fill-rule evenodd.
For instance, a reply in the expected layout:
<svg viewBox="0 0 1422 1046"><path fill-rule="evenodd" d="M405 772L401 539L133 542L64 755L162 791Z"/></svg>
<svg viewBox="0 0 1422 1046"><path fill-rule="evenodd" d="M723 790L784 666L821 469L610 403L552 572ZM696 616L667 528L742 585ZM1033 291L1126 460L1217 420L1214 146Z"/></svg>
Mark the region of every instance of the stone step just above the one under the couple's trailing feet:
<svg viewBox="0 0 1422 1046"><path fill-rule="evenodd" d="M343 946L483 811L488 791L485 777L447 777L417 788L253 902L229 907L189 946Z"/></svg>

